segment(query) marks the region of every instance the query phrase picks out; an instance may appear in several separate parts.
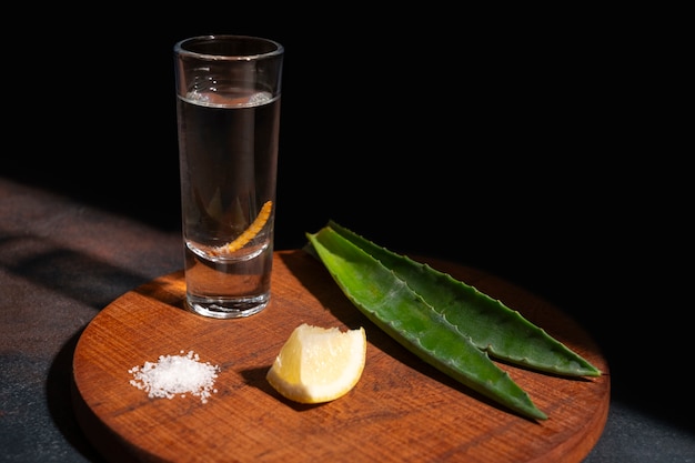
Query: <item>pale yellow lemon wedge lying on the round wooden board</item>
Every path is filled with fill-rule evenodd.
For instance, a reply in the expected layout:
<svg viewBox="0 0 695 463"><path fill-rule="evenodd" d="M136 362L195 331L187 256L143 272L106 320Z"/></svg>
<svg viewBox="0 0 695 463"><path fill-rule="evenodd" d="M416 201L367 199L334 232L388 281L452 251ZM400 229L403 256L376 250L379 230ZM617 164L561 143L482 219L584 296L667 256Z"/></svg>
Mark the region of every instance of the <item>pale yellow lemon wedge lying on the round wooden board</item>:
<svg viewBox="0 0 695 463"><path fill-rule="evenodd" d="M292 401L330 402L357 384L365 360L364 328L340 331L303 323L281 348L266 379Z"/></svg>

